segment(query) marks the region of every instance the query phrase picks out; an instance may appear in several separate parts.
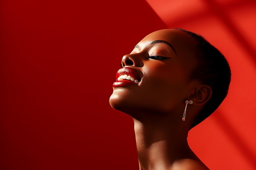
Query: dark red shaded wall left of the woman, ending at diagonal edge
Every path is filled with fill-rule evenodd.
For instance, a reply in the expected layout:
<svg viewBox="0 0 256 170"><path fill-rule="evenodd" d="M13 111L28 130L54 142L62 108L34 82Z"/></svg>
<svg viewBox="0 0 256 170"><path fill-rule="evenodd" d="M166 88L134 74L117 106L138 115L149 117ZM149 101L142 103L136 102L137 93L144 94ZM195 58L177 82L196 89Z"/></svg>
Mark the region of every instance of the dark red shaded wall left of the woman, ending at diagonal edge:
<svg viewBox="0 0 256 170"><path fill-rule="evenodd" d="M167 26L144 0L0 3L0 169L138 169L108 98L121 57Z"/></svg>

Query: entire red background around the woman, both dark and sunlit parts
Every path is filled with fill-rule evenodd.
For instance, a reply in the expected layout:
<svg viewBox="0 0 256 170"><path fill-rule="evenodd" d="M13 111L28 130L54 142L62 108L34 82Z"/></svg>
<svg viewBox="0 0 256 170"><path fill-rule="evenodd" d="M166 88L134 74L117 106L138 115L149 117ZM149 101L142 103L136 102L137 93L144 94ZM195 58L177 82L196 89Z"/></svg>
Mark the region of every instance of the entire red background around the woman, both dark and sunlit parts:
<svg viewBox="0 0 256 170"><path fill-rule="evenodd" d="M108 98L121 57L173 27L203 35L232 70L191 148L213 170L255 169L254 0L1 0L0 169L138 169L132 119Z"/></svg>

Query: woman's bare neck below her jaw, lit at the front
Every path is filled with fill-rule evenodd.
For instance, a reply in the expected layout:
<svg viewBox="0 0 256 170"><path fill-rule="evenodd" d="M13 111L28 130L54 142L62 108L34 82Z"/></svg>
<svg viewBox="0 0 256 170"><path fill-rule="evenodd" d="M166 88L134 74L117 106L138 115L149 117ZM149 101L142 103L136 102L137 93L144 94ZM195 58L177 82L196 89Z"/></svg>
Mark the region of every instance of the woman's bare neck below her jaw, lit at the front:
<svg viewBox="0 0 256 170"><path fill-rule="evenodd" d="M165 119L139 121L134 119L134 129L140 170L164 170L178 159L193 157L187 143L189 128L186 122L172 123ZM175 121L177 122L177 121Z"/></svg>

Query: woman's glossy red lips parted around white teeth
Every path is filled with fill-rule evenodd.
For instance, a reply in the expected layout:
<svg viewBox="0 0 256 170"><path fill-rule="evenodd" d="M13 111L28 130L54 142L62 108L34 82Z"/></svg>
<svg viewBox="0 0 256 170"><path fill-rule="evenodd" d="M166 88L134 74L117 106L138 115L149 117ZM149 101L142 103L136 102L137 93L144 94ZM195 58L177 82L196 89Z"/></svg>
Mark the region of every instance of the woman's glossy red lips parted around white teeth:
<svg viewBox="0 0 256 170"><path fill-rule="evenodd" d="M116 81L113 83L113 87L121 87L121 86L126 86L126 85L138 84L138 83L135 83L135 82L129 81L129 80L120 80L120 81L118 81L117 78L121 75L124 75L124 74L130 75L131 77L135 78L139 82L141 81L141 77L139 76L139 74L134 69L129 68L129 67L125 67L125 68L121 68L117 71Z"/></svg>

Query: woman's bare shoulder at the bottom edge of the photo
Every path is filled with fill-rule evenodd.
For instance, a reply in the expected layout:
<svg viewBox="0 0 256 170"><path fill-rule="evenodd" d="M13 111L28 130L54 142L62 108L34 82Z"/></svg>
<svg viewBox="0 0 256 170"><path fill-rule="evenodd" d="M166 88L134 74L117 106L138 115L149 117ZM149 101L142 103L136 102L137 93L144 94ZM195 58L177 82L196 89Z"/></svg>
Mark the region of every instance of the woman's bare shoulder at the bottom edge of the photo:
<svg viewBox="0 0 256 170"><path fill-rule="evenodd" d="M171 170L209 170L201 161L193 159L180 159L173 163Z"/></svg>

